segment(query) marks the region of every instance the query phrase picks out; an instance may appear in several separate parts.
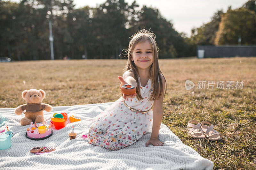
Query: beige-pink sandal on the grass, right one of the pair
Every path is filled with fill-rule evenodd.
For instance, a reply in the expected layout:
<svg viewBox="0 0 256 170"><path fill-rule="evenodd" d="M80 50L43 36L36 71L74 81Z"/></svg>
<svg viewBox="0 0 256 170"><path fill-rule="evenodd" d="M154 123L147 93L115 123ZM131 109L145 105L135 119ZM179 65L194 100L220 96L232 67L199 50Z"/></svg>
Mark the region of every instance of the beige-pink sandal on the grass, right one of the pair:
<svg viewBox="0 0 256 170"><path fill-rule="evenodd" d="M204 124L209 124L209 126L204 125ZM213 129L213 125L210 122L203 121L201 123L201 128L203 132L205 133L205 137L207 137L210 141L219 141L221 140L220 133L217 132L216 130Z"/></svg>

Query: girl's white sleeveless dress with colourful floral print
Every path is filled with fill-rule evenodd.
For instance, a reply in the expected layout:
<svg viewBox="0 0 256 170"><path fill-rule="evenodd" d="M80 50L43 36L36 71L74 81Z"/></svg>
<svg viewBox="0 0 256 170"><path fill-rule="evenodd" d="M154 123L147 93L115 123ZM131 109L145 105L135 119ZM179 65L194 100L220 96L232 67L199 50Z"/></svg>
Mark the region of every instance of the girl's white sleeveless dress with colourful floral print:
<svg viewBox="0 0 256 170"><path fill-rule="evenodd" d="M154 102L148 100L151 93L151 80L149 79L145 87L140 85L140 94L144 99L138 100L135 97L126 99L125 103L134 109L146 111L152 107ZM120 97L94 118L88 132L90 144L118 150L133 144L152 129L152 109L148 113L134 112L126 107L122 100L123 97Z"/></svg>

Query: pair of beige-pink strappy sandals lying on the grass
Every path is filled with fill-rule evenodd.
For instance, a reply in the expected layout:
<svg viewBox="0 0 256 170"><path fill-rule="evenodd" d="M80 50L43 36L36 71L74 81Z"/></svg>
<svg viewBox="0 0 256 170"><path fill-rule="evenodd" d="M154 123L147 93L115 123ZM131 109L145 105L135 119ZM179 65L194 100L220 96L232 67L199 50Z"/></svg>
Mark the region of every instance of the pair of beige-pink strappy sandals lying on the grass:
<svg viewBox="0 0 256 170"><path fill-rule="evenodd" d="M196 124L192 124L196 123ZM210 125L204 125L208 124ZM213 129L213 125L210 122L203 121L202 123L198 123L195 120L191 120L188 122L188 134L194 139L204 139L207 138L210 141L219 141L221 140L220 133Z"/></svg>

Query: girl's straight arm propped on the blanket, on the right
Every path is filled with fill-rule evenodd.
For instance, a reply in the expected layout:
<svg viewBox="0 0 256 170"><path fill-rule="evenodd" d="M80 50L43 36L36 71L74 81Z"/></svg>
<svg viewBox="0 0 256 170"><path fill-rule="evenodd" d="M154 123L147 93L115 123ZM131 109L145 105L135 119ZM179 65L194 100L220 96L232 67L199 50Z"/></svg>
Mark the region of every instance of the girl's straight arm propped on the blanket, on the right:
<svg viewBox="0 0 256 170"><path fill-rule="evenodd" d="M153 108L153 127L152 127L152 133L150 140L146 143L146 147L148 147L149 144L153 144L154 146L163 146L164 142L161 142L158 140L158 134L160 125L163 119L163 100L164 100L164 89L165 89L165 80L164 77L162 77L163 80L163 92L161 94L160 99L154 101L154 108Z"/></svg>

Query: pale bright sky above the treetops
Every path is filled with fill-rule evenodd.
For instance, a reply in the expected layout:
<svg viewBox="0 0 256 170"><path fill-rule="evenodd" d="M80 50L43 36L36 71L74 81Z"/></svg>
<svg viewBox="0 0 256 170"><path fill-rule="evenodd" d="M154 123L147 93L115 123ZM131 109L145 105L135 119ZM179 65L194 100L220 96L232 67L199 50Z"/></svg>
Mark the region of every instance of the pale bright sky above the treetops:
<svg viewBox="0 0 256 170"><path fill-rule="evenodd" d="M20 2L20 0L12 0ZM125 0L131 4L134 0ZM137 4L142 7L157 8L161 15L171 21L173 27L179 33L186 33L188 37L191 35L193 27L200 27L203 23L211 21L213 14L223 9L227 11L228 6L232 9L241 7L248 0L137 0ZM84 6L96 7L106 0L74 0L75 8Z"/></svg>

